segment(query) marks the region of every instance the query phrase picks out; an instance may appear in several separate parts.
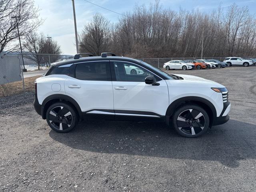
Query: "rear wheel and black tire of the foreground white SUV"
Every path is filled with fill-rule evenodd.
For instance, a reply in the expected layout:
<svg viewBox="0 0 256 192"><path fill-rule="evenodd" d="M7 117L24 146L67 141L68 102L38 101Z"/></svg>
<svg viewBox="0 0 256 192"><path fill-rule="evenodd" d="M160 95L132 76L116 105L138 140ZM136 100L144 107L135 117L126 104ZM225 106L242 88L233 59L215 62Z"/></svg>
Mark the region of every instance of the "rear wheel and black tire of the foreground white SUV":
<svg viewBox="0 0 256 192"><path fill-rule="evenodd" d="M76 111L66 103L54 103L46 111L46 121L56 132L71 131L78 122Z"/></svg>

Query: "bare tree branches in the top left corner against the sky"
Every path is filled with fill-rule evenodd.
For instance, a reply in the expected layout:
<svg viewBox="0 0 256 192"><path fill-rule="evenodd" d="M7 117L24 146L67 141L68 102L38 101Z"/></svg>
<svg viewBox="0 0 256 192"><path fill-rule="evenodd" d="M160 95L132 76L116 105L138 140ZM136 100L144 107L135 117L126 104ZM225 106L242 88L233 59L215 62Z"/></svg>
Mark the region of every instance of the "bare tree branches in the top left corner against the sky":
<svg viewBox="0 0 256 192"><path fill-rule="evenodd" d="M42 24L38 11L33 0L0 0L0 52L16 48L17 27L24 37ZM12 16L18 16L17 22Z"/></svg>

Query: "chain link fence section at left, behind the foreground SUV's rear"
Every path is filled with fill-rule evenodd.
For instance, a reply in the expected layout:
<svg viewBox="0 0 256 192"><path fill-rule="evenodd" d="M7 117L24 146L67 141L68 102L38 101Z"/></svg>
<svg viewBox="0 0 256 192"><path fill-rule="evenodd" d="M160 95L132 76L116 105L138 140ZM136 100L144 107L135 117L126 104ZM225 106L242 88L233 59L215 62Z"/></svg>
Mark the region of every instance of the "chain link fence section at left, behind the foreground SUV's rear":
<svg viewBox="0 0 256 192"><path fill-rule="evenodd" d="M34 80L53 62L71 55L0 53L0 97L34 89Z"/></svg>

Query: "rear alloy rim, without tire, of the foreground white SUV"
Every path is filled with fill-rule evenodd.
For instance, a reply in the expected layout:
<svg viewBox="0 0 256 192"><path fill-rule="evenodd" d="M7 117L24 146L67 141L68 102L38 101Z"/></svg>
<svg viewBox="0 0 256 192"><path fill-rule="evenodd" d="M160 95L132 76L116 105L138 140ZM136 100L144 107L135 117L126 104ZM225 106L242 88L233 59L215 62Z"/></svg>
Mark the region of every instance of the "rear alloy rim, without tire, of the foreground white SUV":
<svg viewBox="0 0 256 192"><path fill-rule="evenodd" d="M50 111L49 122L54 128L58 130L66 130L71 126L73 117L67 108L63 106L57 106L52 108Z"/></svg>

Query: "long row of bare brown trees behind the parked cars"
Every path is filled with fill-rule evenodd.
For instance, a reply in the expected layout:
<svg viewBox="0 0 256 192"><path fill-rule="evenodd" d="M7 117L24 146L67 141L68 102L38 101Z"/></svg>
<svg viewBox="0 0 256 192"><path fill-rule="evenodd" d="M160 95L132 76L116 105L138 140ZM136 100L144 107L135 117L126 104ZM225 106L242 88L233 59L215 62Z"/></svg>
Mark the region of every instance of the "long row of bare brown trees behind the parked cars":
<svg viewBox="0 0 256 192"><path fill-rule="evenodd" d="M227 10L178 12L159 0L135 6L118 22L95 14L79 35L80 52L114 52L134 58L254 56L256 19L248 7L232 4Z"/></svg>

